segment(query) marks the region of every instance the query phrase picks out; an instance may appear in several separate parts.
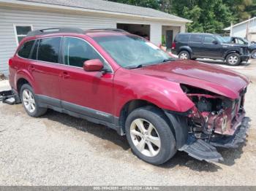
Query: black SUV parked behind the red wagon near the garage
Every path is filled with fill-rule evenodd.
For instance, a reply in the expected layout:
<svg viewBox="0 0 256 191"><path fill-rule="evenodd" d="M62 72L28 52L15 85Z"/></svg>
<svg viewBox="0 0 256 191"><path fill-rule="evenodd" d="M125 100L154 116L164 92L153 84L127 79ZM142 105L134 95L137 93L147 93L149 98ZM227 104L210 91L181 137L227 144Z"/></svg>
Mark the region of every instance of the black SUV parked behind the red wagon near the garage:
<svg viewBox="0 0 256 191"><path fill-rule="evenodd" d="M216 34L177 34L172 52L181 59L211 58L232 66L249 60L248 46L227 43Z"/></svg>

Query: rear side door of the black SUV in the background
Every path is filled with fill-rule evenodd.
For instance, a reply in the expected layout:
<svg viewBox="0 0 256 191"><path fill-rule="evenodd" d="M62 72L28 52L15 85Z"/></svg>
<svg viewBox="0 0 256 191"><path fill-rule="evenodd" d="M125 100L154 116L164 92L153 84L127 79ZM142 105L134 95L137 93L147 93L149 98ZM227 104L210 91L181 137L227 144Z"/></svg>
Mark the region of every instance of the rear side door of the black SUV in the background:
<svg viewBox="0 0 256 191"><path fill-rule="evenodd" d="M202 56L205 54L203 49L203 35L192 34L189 39L189 47L192 49L192 54L195 56Z"/></svg>

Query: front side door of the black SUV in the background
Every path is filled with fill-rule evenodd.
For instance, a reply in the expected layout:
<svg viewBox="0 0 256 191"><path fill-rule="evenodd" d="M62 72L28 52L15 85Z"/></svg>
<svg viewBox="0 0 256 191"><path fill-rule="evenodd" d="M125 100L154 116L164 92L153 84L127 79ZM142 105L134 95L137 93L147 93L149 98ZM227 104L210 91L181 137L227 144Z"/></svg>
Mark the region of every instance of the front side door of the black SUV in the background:
<svg viewBox="0 0 256 191"><path fill-rule="evenodd" d="M222 44L220 44L214 36L204 36L203 49L205 55L209 58L222 58Z"/></svg>

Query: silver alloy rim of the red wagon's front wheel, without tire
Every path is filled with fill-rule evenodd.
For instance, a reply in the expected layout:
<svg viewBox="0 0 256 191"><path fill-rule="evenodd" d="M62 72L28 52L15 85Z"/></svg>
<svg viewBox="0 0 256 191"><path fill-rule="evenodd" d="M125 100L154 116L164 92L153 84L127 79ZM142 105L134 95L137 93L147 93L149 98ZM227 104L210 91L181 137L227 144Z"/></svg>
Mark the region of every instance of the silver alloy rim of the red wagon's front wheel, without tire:
<svg viewBox="0 0 256 191"><path fill-rule="evenodd" d="M151 122L136 119L130 127L130 136L135 147L147 157L156 156L161 149L159 133Z"/></svg>

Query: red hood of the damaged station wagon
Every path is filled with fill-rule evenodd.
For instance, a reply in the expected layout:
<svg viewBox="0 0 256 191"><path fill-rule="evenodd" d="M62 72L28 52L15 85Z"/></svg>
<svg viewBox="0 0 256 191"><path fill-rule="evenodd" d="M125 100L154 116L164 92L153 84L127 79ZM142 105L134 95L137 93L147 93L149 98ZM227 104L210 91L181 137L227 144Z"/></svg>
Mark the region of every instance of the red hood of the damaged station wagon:
<svg viewBox="0 0 256 191"><path fill-rule="evenodd" d="M133 71L192 85L233 99L238 98L240 91L249 84L249 80L236 71L197 61L170 61Z"/></svg>

